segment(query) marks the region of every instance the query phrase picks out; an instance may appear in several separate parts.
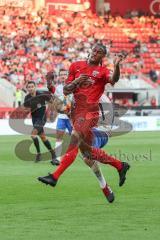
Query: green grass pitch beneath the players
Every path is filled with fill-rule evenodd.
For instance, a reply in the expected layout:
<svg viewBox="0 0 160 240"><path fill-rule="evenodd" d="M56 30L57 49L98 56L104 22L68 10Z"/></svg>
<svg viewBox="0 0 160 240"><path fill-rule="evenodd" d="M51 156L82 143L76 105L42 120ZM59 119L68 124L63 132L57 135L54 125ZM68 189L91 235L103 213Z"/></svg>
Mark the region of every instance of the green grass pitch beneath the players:
<svg viewBox="0 0 160 240"><path fill-rule="evenodd" d="M0 240L160 239L160 132L110 139L107 151L131 164L122 188L116 170L102 166L113 204L80 158L56 188L38 182L54 167L19 160L14 149L24 138L0 137Z"/></svg>

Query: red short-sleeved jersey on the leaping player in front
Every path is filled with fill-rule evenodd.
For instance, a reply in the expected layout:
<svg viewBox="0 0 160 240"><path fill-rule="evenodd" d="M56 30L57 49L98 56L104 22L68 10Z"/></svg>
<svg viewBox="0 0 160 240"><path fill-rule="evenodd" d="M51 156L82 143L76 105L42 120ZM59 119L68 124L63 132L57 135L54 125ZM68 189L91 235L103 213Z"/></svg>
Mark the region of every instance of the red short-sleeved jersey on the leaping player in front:
<svg viewBox="0 0 160 240"><path fill-rule="evenodd" d="M66 84L71 83L81 74L86 74L93 81L92 85L77 87L74 92L76 106L85 108L87 104L98 104L104 92L105 85L111 83L110 71L105 66L90 66L87 61L78 61L71 64ZM84 101L85 99L85 101Z"/></svg>

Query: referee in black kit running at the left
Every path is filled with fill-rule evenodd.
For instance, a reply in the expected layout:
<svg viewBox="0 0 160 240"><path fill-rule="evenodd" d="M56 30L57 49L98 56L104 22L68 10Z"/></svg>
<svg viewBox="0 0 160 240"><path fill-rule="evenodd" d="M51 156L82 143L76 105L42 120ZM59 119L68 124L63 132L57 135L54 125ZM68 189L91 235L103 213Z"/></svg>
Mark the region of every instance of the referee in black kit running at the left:
<svg viewBox="0 0 160 240"><path fill-rule="evenodd" d="M50 141L47 139L43 128L47 120L46 102L49 102L51 100L52 95L49 91L37 90L34 81L28 81L26 88L28 94L24 99L24 107L26 110L31 112L32 116L33 130L31 137L37 150L35 161L39 162L41 160L40 145L37 137L39 136L46 148L50 151L52 162L55 165L59 165L59 161L56 159L55 152L51 146Z"/></svg>

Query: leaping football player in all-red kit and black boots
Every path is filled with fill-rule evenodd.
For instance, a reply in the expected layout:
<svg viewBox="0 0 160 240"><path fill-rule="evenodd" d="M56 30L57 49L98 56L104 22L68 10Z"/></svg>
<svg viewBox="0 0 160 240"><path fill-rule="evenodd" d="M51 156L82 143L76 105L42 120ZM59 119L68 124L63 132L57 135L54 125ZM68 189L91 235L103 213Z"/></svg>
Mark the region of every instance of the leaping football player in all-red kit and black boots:
<svg viewBox="0 0 160 240"><path fill-rule="evenodd" d="M97 125L99 119L99 99L107 83L114 85L119 80L119 64L125 58L124 54L116 56L113 74L110 76L109 69L102 65L106 53L104 45L96 44L87 61L77 61L70 66L64 94L73 93L75 100L71 114L73 124L71 142L55 172L38 178L45 184L51 186L57 184L61 174L76 159L78 148L84 157L115 167L119 173L119 186L125 182L129 164L108 155L102 149L91 146L92 128Z"/></svg>

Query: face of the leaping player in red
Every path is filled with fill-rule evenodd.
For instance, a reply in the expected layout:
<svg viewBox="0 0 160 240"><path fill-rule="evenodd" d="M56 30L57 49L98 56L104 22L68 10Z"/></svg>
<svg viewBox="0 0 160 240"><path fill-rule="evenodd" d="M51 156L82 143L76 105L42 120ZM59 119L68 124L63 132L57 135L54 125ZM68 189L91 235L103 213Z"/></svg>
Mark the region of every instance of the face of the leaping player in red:
<svg viewBox="0 0 160 240"><path fill-rule="evenodd" d="M105 54L103 49L101 49L99 46L95 46L92 48L91 54L89 56L89 62L98 64L102 61Z"/></svg>

